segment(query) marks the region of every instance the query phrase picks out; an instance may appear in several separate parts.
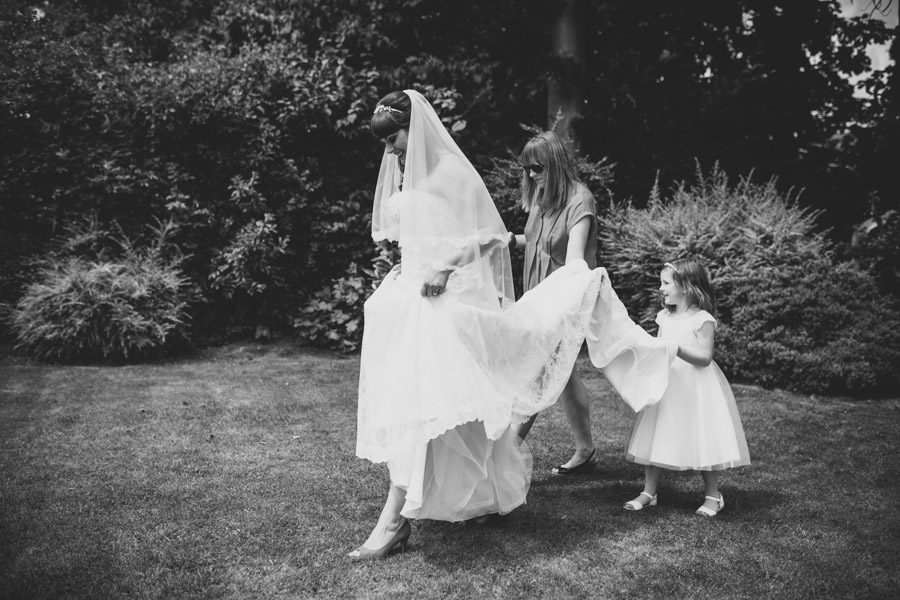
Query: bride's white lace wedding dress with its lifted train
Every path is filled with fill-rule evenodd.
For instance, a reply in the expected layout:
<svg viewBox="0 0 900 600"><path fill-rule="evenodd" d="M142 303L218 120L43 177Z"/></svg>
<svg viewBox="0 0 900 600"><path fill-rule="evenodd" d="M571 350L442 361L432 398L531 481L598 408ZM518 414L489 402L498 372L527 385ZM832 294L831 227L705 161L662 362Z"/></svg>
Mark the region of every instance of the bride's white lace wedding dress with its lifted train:
<svg viewBox="0 0 900 600"><path fill-rule="evenodd" d="M401 219L416 201L395 194L385 214ZM568 265L504 309L478 273L485 262L423 297L431 265L404 252L365 305L357 454L388 464L408 518L460 521L525 502L531 455L509 426L556 401L589 332L592 360L626 400L665 389L666 347L631 322L605 269Z"/></svg>

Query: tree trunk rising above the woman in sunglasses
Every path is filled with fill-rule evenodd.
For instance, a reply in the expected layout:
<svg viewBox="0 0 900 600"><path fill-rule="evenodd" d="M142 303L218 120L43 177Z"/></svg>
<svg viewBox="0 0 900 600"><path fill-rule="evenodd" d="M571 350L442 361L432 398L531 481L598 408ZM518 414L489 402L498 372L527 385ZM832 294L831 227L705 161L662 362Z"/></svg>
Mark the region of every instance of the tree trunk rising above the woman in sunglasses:
<svg viewBox="0 0 900 600"><path fill-rule="evenodd" d="M547 85L547 128L566 140L578 153L572 128L584 106L583 0L563 0L553 24L553 68Z"/></svg>

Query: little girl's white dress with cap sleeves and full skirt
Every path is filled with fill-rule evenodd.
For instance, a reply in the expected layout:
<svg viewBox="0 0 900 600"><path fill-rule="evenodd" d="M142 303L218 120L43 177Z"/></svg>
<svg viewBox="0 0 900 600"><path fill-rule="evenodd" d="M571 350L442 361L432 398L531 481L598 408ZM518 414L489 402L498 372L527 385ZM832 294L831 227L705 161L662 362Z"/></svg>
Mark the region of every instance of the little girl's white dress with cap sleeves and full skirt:
<svg viewBox="0 0 900 600"><path fill-rule="evenodd" d="M659 337L682 346L697 344L696 332L715 318L705 310L656 316ZM750 464L734 394L719 366L697 367L675 359L662 399L637 417L628 460L665 469L718 471Z"/></svg>

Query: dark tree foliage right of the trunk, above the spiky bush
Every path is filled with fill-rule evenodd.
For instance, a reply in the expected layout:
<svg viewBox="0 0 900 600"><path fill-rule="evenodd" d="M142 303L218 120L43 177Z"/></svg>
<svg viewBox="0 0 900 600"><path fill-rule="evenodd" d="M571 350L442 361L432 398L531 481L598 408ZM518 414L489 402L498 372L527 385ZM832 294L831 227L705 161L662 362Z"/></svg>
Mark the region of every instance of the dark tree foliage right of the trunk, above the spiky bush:
<svg viewBox="0 0 900 600"><path fill-rule="evenodd" d="M893 37L870 11L847 18L836 0L586 4L590 110L579 137L618 165L620 197L645 198L654 173L666 187L689 177L696 158L777 177L782 192L806 189L801 202L827 210L823 222L842 235L869 189L896 198L890 169L864 163L879 158L874 123L890 109L860 98L848 77L863 78L868 45ZM897 81L882 85L876 98ZM849 148L853 124L876 137Z"/></svg>

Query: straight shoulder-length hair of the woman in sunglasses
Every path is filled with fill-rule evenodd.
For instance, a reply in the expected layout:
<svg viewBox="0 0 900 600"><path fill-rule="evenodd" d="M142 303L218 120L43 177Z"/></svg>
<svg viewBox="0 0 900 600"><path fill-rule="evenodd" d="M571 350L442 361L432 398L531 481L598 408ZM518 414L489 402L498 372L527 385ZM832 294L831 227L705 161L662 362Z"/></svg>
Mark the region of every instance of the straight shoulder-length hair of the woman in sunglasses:
<svg viewBox="0 0 900 600"><path fill-rule="evenodd" d="M522 208L556 210L565 206L580 182L575 166L559 136L552 131L537 134L525 144L519 155L521 165L544 167L544 187L538 188L528 172L522 173Z"/></svg>

